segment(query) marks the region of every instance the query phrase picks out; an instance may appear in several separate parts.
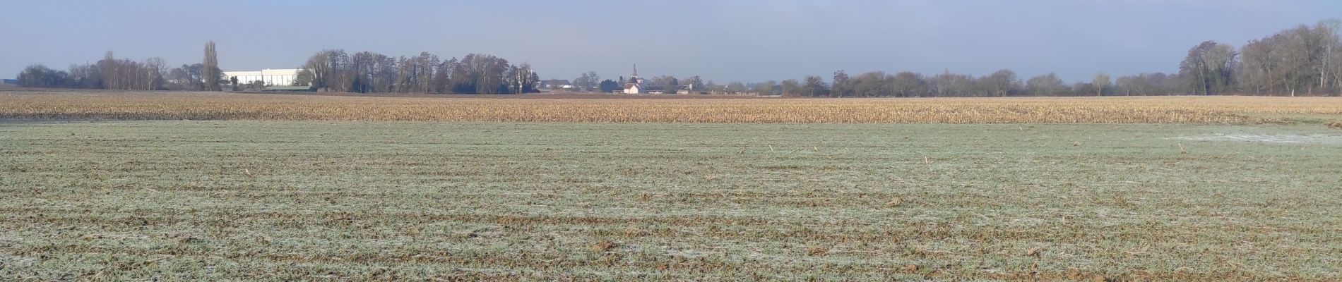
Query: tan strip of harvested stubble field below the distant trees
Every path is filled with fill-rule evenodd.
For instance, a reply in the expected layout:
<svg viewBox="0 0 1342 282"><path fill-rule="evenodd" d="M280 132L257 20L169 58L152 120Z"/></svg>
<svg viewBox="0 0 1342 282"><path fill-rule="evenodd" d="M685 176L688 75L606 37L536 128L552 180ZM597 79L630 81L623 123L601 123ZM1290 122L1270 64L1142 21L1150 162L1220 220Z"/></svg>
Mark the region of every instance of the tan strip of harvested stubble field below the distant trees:
<svg viewBox="0 0 1342 282"><path fill-rule="evenodd" d="M219 92L0 92L0 119L600 123L1270 123L1342 98L488 99ZM544 96L544 95L535 95ZM527 98L535 98L527 96Z"/></svg>

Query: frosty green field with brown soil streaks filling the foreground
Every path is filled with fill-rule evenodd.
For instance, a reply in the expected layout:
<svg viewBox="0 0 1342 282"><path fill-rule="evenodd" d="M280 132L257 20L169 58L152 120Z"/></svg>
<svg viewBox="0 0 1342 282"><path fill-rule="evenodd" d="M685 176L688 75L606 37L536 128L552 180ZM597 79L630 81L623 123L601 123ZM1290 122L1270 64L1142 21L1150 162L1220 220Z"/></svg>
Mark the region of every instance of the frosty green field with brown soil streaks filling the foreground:
<svg viewBox="0 0 1342 282"><path fill-rule="evenodd" d="M1319 124L0 122L0 279L1338 281L1339 187Z"/></svg>

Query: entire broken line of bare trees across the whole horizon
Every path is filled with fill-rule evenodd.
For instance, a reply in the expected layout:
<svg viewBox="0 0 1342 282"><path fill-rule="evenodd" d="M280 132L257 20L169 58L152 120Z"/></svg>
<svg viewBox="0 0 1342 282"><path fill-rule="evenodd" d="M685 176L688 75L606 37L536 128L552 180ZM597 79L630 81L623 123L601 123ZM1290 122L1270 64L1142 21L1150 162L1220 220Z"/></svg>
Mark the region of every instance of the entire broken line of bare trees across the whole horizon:
<svg viewBox="0 0 1342 282"><path fill-rule="evenodd" d="M931 76L902 71L770 80L762 83L717 84L698 76L676 79L654 76L647 87L692 86L694 90L725 94L785 96L1104 96L1104 95L1339 95L1342 94L1342 21L1323 20L1298 25L1251 40L1244 47L1202 41L1188 49L1174 74L1150 72L1113 78L1096 74L1088 82L1066 83L1055 74L1021 79L1011 69L985 76L943 71ZM142 61L115 59L109 51L93 64L71 65L68 71L42 64L19 75L24 87L68 87L105 90L192 90L219 91L223 78L213 41L205 45L200 64L168 68L160 57ZM374 52L349 55L342 49L314 53L299 67L294 86L331 92L416 92L416 94L525 94L537 92L539 76L531 65L513 65L506 59L470 53L442 60L419 56L392 57ZM578 90L611 92L633 79L603 80L596 72L582 74L573 83ZM235 86L236 88L236 86Z"/></svg>

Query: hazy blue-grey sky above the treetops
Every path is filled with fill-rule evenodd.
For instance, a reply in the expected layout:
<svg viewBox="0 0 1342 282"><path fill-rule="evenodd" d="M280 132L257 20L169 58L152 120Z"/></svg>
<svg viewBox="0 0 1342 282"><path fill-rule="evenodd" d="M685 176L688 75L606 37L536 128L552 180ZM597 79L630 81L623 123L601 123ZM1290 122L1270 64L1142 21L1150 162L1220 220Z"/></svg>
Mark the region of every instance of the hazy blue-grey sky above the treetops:
<svg viewBox="0 0 1342 282"><path fill-rule="evenodd" d="M1174 72L1186 51L1342 17L1337 0L0 0L0 78L103 52L172 65L217 44L224 71L295 68L341 48L490 53L542 79L701 76L719 84L867 71L1067 82Z"/></svg>

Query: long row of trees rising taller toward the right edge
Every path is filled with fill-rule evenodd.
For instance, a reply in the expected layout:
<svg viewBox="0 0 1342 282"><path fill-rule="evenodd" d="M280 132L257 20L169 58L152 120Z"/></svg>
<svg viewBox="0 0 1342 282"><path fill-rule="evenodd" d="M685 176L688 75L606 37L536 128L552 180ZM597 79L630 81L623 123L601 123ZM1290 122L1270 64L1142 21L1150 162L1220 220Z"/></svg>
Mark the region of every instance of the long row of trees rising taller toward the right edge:
<svg viewBox="0 0 1342 282"><path fill-rule="evenodd" d="M1244 48L1202 41L1188 51L1177 74L1138 74L1111 79L1096 74L1090 82L1066 84L1055 74L1021 82L1001 69L988 76L943 72L837 71L829 83L820 76L753 84L758 94L789 96L1100 96L1100 95L1339 95L1342 94L1342 36L1339 20L1299 25L1252 40ZM730 87L727 87L730 88ZM731 90L726 90L731 92Z"/></svg>

